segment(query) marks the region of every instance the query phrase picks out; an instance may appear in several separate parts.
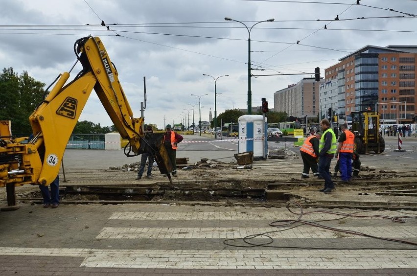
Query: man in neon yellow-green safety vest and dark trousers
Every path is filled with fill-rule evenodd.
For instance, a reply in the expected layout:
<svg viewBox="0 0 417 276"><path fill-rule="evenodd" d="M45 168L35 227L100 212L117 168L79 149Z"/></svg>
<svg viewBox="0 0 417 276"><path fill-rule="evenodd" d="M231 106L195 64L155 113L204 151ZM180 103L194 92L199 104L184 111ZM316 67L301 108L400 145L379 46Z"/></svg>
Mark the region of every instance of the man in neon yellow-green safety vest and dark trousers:
<svg viewBox="0 0 417 276"><path fill-rule="evenodd" d="M327 119L321 120L320 126L324 130L319 145L319 174L324 179L324 188L320 191L330 193L335 188L331 180L330 163L336 153L336 136Z"/></svg>

